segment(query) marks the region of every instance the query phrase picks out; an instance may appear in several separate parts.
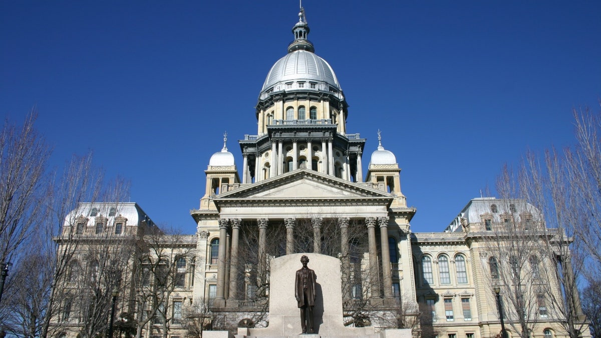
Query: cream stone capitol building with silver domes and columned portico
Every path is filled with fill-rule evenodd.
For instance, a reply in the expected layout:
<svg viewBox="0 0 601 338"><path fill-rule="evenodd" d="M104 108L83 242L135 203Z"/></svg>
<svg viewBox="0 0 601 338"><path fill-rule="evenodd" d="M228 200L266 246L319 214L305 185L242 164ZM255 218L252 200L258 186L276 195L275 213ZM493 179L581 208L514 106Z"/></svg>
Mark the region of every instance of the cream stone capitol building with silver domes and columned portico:
<svg viewBox="0 0 601 338"><path fill-rule="evenodd" d="M128 251L133 258L120 274L115 325L147 338L268 327L270 285L276 283L270 262L311 253L340 263L332 269L341 272L347 327L409 328L416 337L501 337L502 303L507 337L522 334L520 314L528 316L529 337L569 337L549 291L558 281L543 277L555 271L551 260L532 253L516 277L510 249L499 251L508 247L499 241L513 241L499 239L508 224L544 233L540 212L526 200L480 197L448 215L453 221L441 232L413 232L416 207L407 204L397 157L386 150L392 137L378 135L377 147L366 149L365 138L347 130L342 84L316 54L309 32L301 9L287 54L266 70L255 106L257 130L224 136L222 149L207 159L206 189L191 210L194 235L163 234L148 217L151 210L136 203L86 203L67 218L64 228L75 226L81 237L63 243L85 241L79 251L93 246L95 236L156 237ZM241 138L242 163L234 161L228 137ZM68 296L81 287L76 272L102 274L102 264L79 251L70 265L76 271L63 284L68 311L56 323L67 337L78 336L85 322L76 314L83 313L78 300ZM520 291L521 312L511 304L516 278L528 286ZM195 321L194 330L188 321Z"/></svg>

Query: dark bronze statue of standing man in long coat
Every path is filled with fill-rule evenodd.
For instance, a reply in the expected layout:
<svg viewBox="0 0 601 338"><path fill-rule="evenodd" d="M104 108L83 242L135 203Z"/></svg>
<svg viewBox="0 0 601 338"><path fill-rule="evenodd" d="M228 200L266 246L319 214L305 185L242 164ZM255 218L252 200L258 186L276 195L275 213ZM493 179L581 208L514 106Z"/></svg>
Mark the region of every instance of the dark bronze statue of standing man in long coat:
<svg viewBox="0 0 601 338"><path fill-rule="evenodd" d="M294 297L301 309L302 333L314 333L313 331L313 307L315 306L315 271L307 268L309 257L301 257L302 268L296 271L294 280Z"/></svg>

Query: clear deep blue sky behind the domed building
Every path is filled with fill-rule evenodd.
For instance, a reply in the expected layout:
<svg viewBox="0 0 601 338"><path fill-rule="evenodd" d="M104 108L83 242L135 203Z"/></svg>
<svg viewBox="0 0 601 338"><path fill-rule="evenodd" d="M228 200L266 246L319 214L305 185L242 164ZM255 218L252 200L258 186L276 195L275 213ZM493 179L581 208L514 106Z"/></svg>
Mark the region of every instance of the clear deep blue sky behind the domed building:
<svg viewBox="0 0 601 338"><path fill-rule="evenodd" d="M350 104L347 130L382 143L442 231L504 162L573 141L599 110L601 1L303 2L316 54ZM93 150L158 224L195 231L210 156L257 134L254 105L293 40L296 0L0 1L0 113L33 105L52 164Z"/></svg>

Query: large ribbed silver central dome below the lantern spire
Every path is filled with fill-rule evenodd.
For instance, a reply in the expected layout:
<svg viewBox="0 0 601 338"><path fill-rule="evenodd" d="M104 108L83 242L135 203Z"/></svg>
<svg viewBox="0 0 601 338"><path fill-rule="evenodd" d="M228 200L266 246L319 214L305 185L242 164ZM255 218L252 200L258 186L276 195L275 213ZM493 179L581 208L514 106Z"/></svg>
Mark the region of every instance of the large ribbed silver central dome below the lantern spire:
<svg viewBox="0 0 601 338"><path fill-rule="evenodd" d="M326 60L312 52L301 50L288 53L271 67L261 92L272 87L276 87L273 88L275 91L284 90L285 83L294 81L325 82L330 87L340 90L334 70Z"/></svg>

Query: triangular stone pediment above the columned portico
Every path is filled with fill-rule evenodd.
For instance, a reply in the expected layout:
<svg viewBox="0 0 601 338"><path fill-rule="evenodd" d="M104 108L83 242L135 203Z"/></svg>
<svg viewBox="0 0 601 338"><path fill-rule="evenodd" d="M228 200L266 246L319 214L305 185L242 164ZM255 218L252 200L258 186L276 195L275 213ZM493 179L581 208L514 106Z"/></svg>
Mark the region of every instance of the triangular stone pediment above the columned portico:
<svg viewBox="0 0 601 338"><path fill-rule="evenodd" d="M215 203L231 200L392 200L386 192L368 188L361 183L348 182L314 170L299 169L270 179L242 186L215 198Z"/></svg>

